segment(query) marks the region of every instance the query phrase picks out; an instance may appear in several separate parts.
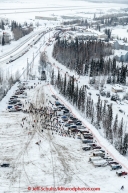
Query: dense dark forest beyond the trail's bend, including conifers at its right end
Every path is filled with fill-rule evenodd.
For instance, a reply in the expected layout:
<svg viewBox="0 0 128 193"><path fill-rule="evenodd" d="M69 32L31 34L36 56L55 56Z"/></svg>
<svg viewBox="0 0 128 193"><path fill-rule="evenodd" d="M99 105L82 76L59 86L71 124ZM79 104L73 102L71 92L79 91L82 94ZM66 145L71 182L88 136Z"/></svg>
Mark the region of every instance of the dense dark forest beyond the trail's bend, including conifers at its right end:
<svg viewBox="0 0 128 193"><path fill-rule="evenodd" d="M111 45L101 41L79 42L58 39L54 44L53 57L78 75L92 77L91 84L95 84L96 76L107 76L107 83L126 84L128 76L127 65L117 65L116 59L110 59ZM104 59L104 56L108 56Z"/></svg>

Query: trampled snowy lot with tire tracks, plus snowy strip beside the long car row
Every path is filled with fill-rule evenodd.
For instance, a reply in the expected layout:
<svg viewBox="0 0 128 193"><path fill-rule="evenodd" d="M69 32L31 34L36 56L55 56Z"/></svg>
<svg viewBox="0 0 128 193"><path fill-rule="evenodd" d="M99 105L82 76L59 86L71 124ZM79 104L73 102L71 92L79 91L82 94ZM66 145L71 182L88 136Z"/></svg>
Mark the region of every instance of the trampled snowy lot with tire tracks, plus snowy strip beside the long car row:
<svg viewBox="0 0 128 193"><path fill-rule="evenodd" d="M86 123L87 127L90 127L90 130L98 138L100 137L102 145L108 145L106 148L111 149L117 160L123 161L127 167L128 161L115 152L111 145L101 138L96 129L78 115L77 111L53 88L45 82L38 84L36 80L29 81L30 85L34 85L34 83L37 85L35 89L27 91L27 104L24 99L22 100L25 105L24 109L27 108L29 102L39 108L42 94L46 105L50 106L49 101L52 103L55 101L51 95L56 94L76 117L82 119L83 124ZM11 89L10 94L14 93L16 87L17 85ZM128 192L128 177L118 177L115 171L110 171L110 166L95 168L88 162L91 152L82 150L81 140L77 137L73 139L60 136L55 131L52 135L52 131L45 130L43 125L40 125L40 115L38 114L35 116L31 113L8 112L5 102L7 100L9 100L9 95L1 102L4 108L0 112L0 161L1 164L9 163L10 167L0 168L1 192L31 192L33 187L85 187L100 188L101 193L119 193L122 192L120 190L122 185L125 187L123 192ZM22 121L24 117L27 118L26 121ZM32 127L32 124L35 125L35 128ZM40 145L36 145L35 143L40 140ZM123 167L123 170L126 171L126 168ZM28 190L28 187L31 188L31 191Z"/></svg>

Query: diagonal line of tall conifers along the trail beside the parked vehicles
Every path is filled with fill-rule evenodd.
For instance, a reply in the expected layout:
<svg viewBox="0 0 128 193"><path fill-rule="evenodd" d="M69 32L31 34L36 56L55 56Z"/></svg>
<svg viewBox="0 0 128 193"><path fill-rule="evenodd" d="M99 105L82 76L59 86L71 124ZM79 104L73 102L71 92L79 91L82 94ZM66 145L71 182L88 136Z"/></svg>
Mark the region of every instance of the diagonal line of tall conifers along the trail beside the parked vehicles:
<svg viewBox="0 0 128 193"><path fill-rule="evenodd" d="M98 130L103 128L104 137L122 154L126 155L128 151L128 133L125 133L125 123L123 118L118 120L118 115L113 117L112 104L107 105L102 102L100 97L94 104L91 96L87 94L85 86L78 87L75 83L74 76L64 78L58 71L57 77L54 70L51 73L51 84L75 106Z"/></svg>

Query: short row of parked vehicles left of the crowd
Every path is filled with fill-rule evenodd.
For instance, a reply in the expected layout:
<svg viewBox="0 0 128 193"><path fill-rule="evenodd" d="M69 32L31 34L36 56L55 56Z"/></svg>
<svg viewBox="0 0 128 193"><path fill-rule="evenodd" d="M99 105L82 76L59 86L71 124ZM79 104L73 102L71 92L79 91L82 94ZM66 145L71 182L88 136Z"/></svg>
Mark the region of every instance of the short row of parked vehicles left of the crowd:
<svg viewBox="0 0 128 193"><path fill-rule="evenodd" d="M23 84L18 85L18 89L15 91L15 94L10 97L10 100L8 101L8 111L9 112L17 112L22 110L22 102L20 98L27 98L27 93L25 92L26 88Z"/></svg>

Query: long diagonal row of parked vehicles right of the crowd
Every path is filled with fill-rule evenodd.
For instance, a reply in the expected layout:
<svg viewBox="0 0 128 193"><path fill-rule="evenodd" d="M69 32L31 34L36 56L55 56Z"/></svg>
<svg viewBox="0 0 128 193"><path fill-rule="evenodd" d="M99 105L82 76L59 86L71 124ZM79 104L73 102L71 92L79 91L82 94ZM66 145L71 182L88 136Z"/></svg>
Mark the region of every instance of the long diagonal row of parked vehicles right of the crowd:
<svg viewBox="0 0 128 193"><path fill-rule="evenodd" d="M113 160L105 150L103 150L99 145L97 145L96 140L92 133L82 125L82 122L75 118L71 112L61 104L56 96L55 98L56 108L54 110L57 112L57 115L61 117L64 122L64 126L68 128L70 132L77 132L77 136L82 140L82 143L85 144L82 148L84 151L92 151L92 155L89 158L89 162L92 163L95 167L103 167L109 165L111 170L122 169L122 166ZM117 172L118 176L127 175L127 172Z"/></svg>

